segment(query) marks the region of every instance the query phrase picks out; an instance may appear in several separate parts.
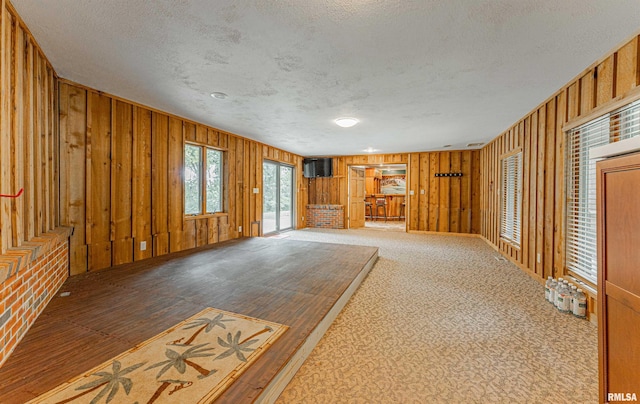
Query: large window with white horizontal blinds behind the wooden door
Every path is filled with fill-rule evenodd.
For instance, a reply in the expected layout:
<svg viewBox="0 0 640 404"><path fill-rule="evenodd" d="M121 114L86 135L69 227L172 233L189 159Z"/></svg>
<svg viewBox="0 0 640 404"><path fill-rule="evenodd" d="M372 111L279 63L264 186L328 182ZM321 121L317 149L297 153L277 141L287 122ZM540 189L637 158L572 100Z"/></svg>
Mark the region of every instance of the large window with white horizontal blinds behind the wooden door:
<svg viewBox="0 0 640 404"><path fill-rule="evenodd" d="M596 163L589 151L640 134L640 101L610 112L567 134L567 269L597 283Z"/></svg>

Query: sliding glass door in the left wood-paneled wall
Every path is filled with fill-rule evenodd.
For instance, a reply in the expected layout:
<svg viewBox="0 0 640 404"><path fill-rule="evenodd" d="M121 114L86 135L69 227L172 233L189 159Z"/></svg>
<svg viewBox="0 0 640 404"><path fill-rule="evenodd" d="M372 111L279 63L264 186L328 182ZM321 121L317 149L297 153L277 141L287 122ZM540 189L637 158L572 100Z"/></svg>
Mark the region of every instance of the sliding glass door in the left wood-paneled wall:
<svg viewBox="0 0 640 404"><path fill-rule="evenodd" d="M262 232L293 229L294 168L274 161L262 163Z"/></svg>

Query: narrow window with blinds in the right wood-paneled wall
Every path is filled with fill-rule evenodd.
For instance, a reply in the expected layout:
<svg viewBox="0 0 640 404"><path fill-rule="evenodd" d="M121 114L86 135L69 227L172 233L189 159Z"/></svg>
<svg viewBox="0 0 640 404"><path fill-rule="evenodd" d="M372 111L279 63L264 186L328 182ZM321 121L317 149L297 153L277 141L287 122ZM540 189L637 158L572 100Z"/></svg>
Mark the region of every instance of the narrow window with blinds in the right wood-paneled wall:
<svg viewBox="0 0 640 404"><path fill-rule="evenodd" d="M500 237L520 246L522 152L502 159Z"/></svg>

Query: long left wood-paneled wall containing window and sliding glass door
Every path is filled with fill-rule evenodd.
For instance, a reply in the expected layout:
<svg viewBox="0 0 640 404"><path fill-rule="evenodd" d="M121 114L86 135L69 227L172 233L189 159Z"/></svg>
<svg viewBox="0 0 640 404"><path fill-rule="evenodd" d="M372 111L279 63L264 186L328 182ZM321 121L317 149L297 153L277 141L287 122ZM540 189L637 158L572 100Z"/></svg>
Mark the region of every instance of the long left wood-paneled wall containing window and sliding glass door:
<svg viewBox="0 0 640 404"><path fill-rule="evenodd" d="M301 226L302 157L74 83L59 88L60 221L74 228L72 274L261 235L263 159L296 167ZM225 151L224 213L184 216L186 141Z"/></svg>

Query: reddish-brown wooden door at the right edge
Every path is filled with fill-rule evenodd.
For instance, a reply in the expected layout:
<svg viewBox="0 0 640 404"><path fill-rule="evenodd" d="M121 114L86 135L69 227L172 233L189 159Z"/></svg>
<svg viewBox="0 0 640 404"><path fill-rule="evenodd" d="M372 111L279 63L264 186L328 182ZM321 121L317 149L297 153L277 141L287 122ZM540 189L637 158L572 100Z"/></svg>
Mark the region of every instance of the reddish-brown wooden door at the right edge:
<svg viewBox="0 0 640 404"><path fill-rule="evenodd" d="M598 162L600 402L640 395L640 154Z"/></svg>

